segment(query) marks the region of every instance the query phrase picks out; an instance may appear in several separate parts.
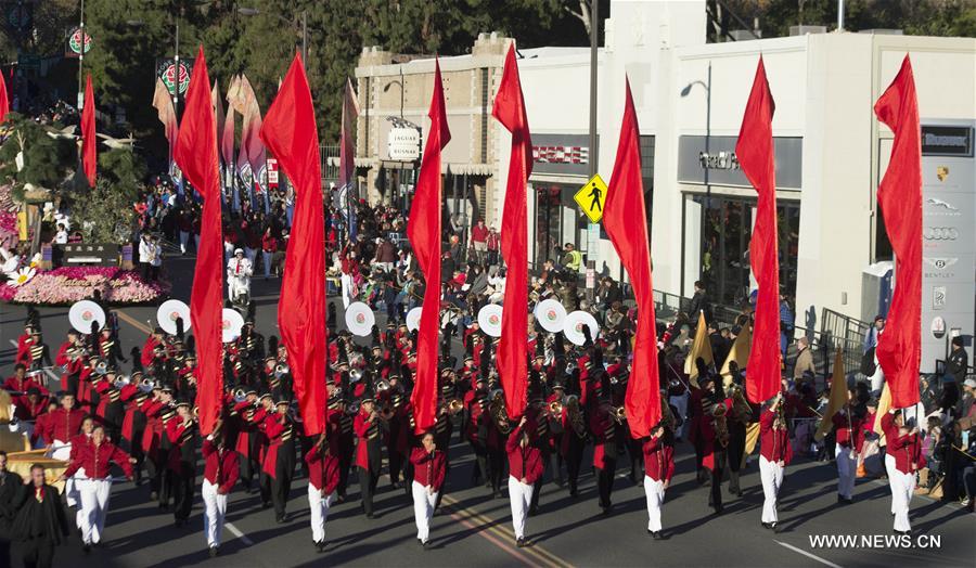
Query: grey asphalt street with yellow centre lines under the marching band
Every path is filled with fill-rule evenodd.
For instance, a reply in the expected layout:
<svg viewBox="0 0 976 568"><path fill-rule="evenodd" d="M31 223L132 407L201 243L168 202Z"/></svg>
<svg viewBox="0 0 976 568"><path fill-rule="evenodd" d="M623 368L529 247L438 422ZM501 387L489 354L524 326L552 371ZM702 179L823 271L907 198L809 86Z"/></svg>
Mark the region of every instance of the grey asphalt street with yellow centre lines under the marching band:
<svg viewBox="0 0 976 568"><path fill-rule="evenodd" d="M168 262L176 280L174 296L189 301L190 259ZM256 281L257 328L274 333L278 281ZM56 349L68 330L67 308L42 309L47 343ZM342 310L339 309L339 314ZM0 372L12 371L12 340L22 328L25 310L0 306ZM141 346L146 321L155 325L155 308L119 310L124 352ZM367 519L359 509L358 485L350 499L333 507L326 524L329 545L317 554L308 527L306 481L292 488L288 518L273 521L270 509L261 509L257 495L232 493L221 556L210 560L203 534L202 503L197 496L191 522L176 528L171 514L149 504L149 487L119 482L113 488L104 545L84 556L73 537L57 550L60 566L973 566L976 539L973 515L956 505L926 498L912 502L913 537L925 544L939 538L940 546L915 548L814 548L810 537L821 534L890 535L890 495L883 481L859 481L856 503L839 506L835 498L836 475L832 463L800 459L787 468L781 492L781 532L772 534L759 525L762 491L757 465L743 476L744 495L729 499L721 516L706 506L707 494L694 480L694 453L684 442L678 448L677 474L667 492L663 521L666 540L652 541L646 533L643 489L626 477L626 457L618 464L614 512L603 517L596 505L593 476L585 468L581 492L573 499L554 483L547 485L540 513L528 519L530 545L514 547L508 499L491 500L484 488L471 488L472 456L466 444L451 448L447 496L432 526L433 550L421 550L415 540L413 508L403 491L381 479L378 518ZM585 464L591 463L587 455ZM197 482L202 476L197 476ZM197 486L198 489L198 486ZM15 556L15 566L20 563Z"/></svg>

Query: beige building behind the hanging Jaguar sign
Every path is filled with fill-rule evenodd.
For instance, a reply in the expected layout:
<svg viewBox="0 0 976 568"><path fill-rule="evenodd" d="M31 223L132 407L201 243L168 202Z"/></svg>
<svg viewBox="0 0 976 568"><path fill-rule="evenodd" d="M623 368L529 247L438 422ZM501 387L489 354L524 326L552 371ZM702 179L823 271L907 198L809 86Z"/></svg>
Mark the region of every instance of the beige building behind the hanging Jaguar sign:
<svg viewBox="0 0 976 568"><path fill-rule="evenodd" d="M451 142L442 154L445 198L451 214L466 219L497 219L499 159L508 162L508 132L491 117L510 39L481 34L466 55L440 60ZM400 55L364 48L356 68L359 95L356 165L360 195L371 204L410 203L420 153L429 128L427 112L434 86L434 57ZM420 152L397 126L421 130ZM501 130L501 133L499 132ZM409 132L408 132L409 134ZM399 137L390 155L390 135ZM505 140L499 152L500 137ZM462 204L466 203L467 207Z"/></svg>

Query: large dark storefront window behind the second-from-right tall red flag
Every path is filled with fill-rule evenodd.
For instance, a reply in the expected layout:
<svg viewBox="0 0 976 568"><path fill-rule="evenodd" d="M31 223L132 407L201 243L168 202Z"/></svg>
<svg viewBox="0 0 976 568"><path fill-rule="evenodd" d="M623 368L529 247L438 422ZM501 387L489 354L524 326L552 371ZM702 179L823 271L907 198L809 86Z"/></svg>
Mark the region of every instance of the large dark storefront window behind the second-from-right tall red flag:
<svg viewBox="0 0 976 568"><path fill-rule="evenodd" d="M702 249L698 251L701 280L712 301L742 306L750 291L749 240L756 199L693 195L702 208ZM799 243L799 204L776 204L779 229L780 286L789 297L796 294L796 258ZM694 255L688 255L694 258Z"/></svg>

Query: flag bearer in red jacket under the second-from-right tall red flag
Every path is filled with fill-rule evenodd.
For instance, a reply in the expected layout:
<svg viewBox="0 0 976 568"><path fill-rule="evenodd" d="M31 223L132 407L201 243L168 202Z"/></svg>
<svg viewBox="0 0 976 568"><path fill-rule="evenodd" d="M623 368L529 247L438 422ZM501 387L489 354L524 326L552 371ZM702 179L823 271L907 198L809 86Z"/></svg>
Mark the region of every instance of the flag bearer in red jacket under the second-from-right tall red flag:
<svg viewBox="0 0 976 568"><path fill-rule="evenodd" d="M783 473L793 459L786 416L783 412L783 393L769 400L759 416L759 477L762 480L762 526L776 530L776 498L783 485Z"/></svg>

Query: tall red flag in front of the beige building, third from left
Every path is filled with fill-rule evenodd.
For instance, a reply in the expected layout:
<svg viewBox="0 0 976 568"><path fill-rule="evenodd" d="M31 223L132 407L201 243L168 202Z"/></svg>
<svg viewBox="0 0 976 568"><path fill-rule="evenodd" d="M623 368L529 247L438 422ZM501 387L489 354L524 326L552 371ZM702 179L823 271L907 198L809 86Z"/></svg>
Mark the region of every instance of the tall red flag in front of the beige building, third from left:
<svg viewBox="0 0 976 568"><path fill-rule="evenodd" d="M416 339L416 377L410 403L414 431L426 431L437 422L437 335L440 330L440 207L444 180L440 151L451 140L440 82L440 63L434 62L434 95L431 98L431 130L424 145L416 194L410 206L407 236L427 285Z"/></svg>

